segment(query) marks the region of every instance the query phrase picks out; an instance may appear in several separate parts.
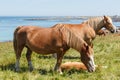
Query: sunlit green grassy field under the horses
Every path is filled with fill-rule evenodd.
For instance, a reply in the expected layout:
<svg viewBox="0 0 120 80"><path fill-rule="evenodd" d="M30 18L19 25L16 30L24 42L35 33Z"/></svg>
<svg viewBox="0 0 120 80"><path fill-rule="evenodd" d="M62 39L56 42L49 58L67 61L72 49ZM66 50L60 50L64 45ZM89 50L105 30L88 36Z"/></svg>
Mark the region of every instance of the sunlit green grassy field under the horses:
<svg viewBox="0 0 120 80"><path fill-rule="evenodd" d="M99 67L95 72L65 71L62 75L53 71L56 59L51 55L32 54L34 71L29 72L24 49L19 73L14 71L15 54L12 42L0 43L0 80L120 80L120 36L97 36L94 40L95 63ZM70 49L64 56L67 61L80 61L80 54Z"/></svg>

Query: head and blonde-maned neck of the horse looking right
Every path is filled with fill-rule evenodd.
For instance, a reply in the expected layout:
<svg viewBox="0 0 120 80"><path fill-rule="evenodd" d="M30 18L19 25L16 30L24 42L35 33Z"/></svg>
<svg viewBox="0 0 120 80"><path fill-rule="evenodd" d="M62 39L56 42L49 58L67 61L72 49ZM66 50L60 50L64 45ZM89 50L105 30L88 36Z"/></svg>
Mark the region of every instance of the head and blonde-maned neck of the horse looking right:
<svg viewBox="0 0 120 80"><path fill-rule="evenodd" d="M96 33L98 33L98 31L103 27L109 30L111 33L116 32L116 27L113 25L112 19L108 16L90 18L83 23L87 23L89 26L91 26Z"/></svg>

